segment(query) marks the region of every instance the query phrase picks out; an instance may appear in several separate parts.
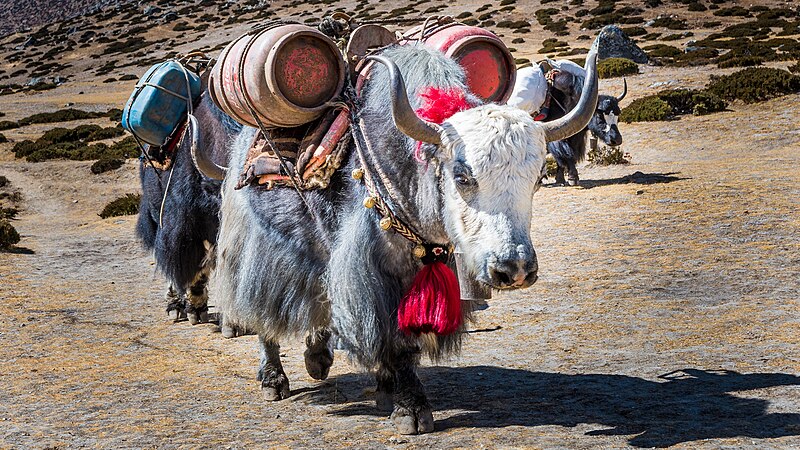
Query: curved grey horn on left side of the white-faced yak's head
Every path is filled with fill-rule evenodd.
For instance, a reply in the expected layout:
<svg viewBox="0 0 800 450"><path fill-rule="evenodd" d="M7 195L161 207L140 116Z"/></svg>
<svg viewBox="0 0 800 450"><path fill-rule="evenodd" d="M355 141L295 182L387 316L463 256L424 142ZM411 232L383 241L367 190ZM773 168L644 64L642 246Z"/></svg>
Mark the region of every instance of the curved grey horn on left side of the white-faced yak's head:
<svg viewBox="0 0 800 450"><path fill-rule="evenodd" d="M442 129L435 123L422 120L411 108L406 95L406 83L397 64L384 56L368 56L366 59L377 61L389 71L389 92L392 96L392 117L398 130L411 139L440 145Z"/></svg>

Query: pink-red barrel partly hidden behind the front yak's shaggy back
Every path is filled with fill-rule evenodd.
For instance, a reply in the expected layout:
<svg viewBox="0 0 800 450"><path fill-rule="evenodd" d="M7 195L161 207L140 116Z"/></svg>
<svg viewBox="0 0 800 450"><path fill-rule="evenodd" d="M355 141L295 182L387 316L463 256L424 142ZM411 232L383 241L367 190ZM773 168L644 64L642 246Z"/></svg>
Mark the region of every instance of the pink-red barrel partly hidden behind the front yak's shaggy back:
<svg viewBox="0 0 800 450"><path fill-rule="evenodd" d="M419 39L422 26L406 33L405 42ZM505 103L514 88L517 68L508 47L497 35L483 28L456 22L434 24L424 32L423 42L455 59L464 68L467 85L488 102Z"/></svg>

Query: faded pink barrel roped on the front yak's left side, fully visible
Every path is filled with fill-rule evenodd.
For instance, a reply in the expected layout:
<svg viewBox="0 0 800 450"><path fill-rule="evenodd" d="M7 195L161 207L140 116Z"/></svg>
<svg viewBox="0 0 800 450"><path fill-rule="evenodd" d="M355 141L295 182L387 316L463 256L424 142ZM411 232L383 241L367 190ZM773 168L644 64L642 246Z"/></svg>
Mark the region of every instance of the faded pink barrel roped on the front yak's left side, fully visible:
<svg viewBox="0 0 800 450"><path fill-rule="evenodd" d="M295 127L319 117L344 86L336 44L314 28L277 25L222 50L209 78L212 100L239 123Z"/></svg>

